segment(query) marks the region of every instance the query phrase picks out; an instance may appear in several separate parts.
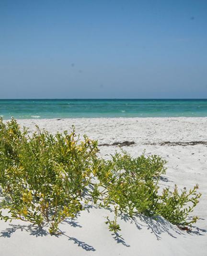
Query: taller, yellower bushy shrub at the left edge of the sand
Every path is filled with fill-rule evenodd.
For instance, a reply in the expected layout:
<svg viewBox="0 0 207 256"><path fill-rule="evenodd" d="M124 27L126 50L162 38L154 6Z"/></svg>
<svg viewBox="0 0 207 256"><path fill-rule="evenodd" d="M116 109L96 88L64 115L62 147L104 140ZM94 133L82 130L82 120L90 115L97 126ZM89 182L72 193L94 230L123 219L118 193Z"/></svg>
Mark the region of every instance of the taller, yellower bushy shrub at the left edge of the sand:
<svg viewBox="0 0 207 256"><path fill-rule="evenodd" d="M28 137L14 119L0 120L0 218L48 223L57 233L61 221L83 209L97 151L96 141L80 142L74 129L54 136L37 127Z"/></svg>

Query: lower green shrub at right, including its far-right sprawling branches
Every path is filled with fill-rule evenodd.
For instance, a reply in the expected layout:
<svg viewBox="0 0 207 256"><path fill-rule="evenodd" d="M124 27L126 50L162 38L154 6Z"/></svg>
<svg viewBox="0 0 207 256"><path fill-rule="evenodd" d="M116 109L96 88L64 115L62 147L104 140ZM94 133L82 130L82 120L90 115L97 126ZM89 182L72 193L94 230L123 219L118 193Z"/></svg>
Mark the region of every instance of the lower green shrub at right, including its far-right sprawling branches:
<svg viewBox="0 0 207 256"><path fill-rule="evenodd" d="M159 181L164 174L166 161L156 155L132 158L127 152L116 153L110 160L102 160L97 171L100 181L101 207L115 206L114 220L107 219L109 230L117 225L117 215L127 214L134 218L137 214L145 216L162 216L178 226L195 223L198 217L189 218L199 202L201 194L198 185L181 193L175 185L173 191L164 188L161 192ZM96 184L97 186L97 184ZM104 190L103 190L104 189ZM97 187L96 187L97 190Z"/></svg>

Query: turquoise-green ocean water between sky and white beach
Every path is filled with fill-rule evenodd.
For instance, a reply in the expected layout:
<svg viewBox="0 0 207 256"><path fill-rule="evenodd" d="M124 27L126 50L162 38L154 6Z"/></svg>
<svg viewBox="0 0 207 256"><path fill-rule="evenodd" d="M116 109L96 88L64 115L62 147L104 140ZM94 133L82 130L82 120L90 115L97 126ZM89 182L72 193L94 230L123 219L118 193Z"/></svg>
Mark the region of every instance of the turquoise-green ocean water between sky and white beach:
<svg viewBox="0 0 207 256"><path fill-rule="evenodd" d="M207 99L0 99L3 119L206 117Z"/></svg>

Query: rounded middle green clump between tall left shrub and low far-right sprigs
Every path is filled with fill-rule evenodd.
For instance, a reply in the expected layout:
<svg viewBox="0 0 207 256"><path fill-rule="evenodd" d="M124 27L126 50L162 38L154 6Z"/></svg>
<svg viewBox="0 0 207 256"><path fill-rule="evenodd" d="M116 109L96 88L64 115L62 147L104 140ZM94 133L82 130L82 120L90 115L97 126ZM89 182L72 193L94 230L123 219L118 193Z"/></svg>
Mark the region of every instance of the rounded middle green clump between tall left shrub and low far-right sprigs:
<svg viewBox="0 0 207 256"><path fill-rule="evenodd" d="M116 153L111 160L102 162L97 172L105 194L106 207L118 205L120 212L133 217L136 213L151 216L158 201L158 180L165 172L165 161L158 156L144 154L132 158L126 152Z"/></svg>

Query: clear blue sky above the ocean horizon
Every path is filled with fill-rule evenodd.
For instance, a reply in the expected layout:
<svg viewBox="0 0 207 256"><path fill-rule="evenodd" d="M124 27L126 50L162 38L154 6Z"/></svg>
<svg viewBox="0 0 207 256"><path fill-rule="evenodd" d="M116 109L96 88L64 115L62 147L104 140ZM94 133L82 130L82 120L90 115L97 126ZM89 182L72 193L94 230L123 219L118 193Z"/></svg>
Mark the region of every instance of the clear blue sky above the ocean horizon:
<svg viewBox="0 0 207 256"><path fill-rule="evenodd" d="M207 98L207 0L0 0L0 98Z"/></svg>

